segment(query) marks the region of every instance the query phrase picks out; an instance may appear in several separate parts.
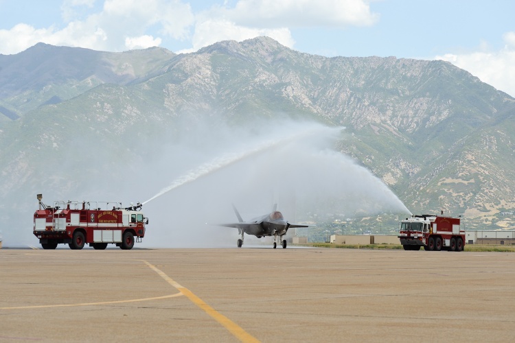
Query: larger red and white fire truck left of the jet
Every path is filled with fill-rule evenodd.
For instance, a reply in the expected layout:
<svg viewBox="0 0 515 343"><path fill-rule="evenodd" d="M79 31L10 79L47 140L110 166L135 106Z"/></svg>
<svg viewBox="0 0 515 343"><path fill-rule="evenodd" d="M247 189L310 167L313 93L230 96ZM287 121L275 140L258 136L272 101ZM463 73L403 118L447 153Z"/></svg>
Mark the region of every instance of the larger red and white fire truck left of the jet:
<svg viewBox="0 0 515 343"><path fill-rule="evenodd" d="M34 235L43 249L55 249L68 244L73 250L89 243L96 250L116 244L124 250L141 242L148 224L141 212L141 204L122 208L120 202L56 201L53 206L41 202L34 213Z"/></svg>

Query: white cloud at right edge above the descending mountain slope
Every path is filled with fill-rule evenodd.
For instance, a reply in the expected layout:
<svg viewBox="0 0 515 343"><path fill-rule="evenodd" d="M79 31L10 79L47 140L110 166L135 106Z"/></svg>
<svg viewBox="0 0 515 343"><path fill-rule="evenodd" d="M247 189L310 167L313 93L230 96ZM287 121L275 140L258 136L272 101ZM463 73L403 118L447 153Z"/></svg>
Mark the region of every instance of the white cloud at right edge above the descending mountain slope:
<svg viewBox="0 0 515 343"><path fill-rule="evenodd" d="M505 47L499 51L436 56L465 69L495 88L515 97L515 32L503 35Z"/></svg>

